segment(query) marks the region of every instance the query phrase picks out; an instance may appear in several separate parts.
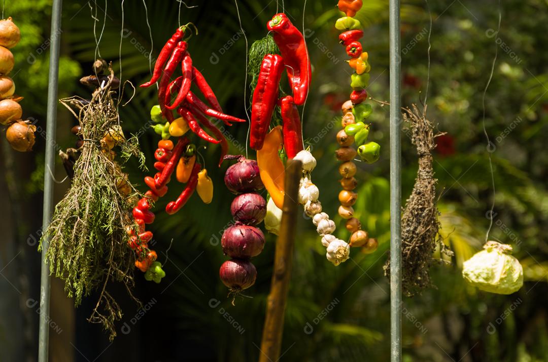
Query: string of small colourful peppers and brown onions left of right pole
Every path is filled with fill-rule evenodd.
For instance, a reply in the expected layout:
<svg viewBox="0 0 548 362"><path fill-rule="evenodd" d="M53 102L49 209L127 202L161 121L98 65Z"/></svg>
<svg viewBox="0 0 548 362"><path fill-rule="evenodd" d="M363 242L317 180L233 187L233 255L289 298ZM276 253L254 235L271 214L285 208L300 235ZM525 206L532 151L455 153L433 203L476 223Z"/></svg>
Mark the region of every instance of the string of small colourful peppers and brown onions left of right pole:
<svg viewBox="0 0 548 362"><path fill-rule="evenodd" d="M353 162L359 154L363 161L372 163L378 159L379 147L375 142L365 143L369 135L369 125L364 123L372 112L369 104L363 103L367 99L366 87L369 83L370 66L368 54L363 52L362 44L358 41L363 37L363 31L359 21L353 16L361 9L362 0L339 0L339 10L346 13L335 23L338 30L343 31L339 35L339 42L345 46L346 54L351 57L347 63L354 69L351 75L352 93L350 100L343 103L343 118L341 129L337 133L337 142L340 148L336 150L336 158L343 162L339 167L339 173L343 177L340 180L343 190L339 192L339 215L346 219L346 229L351 232L350 246L361 247L364 253L373 253L378 243L376 239L369 238L367 231L362 230L362 224L355 218L352 206L358 199L358 194L353 190L358 182L354 175L357 167ZM358 145L358 151L351 147L352 143ZM373 147L372 147L373 146Z"/></svg>

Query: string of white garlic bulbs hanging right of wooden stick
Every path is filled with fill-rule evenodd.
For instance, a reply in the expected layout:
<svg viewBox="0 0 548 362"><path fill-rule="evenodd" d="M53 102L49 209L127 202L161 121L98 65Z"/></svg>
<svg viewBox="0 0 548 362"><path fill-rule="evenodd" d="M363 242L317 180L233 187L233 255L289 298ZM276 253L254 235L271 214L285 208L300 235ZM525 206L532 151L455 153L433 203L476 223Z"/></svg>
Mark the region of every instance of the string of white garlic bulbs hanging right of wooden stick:
<svg viewBox="0 0 548 362"><path fill-rule="evenodd" d="M316 231L322 237L322 245L326 247L326 258L333 265L339 265L349 259L350 246L345 241L333 235L335 221L322 212L322 203L319 201L319 189L312 183L312 170L316 167L316 159L310 151L302 150L294 157L302 162L302 177L299 183L299 203L304 207L306 215L312 218Z"/></svg>

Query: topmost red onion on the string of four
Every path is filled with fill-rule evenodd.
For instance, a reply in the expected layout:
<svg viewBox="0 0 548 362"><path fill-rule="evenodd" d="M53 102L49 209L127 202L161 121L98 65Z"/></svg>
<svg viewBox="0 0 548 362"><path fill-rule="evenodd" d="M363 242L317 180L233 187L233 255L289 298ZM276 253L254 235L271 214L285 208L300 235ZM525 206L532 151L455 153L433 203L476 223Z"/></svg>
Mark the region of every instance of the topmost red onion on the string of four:
<svg viewBox="0 0 548 362"><path fill-rule="evenodd" d="M230 166L225 173L225 185L234 194L256 191L264 188L259 175L257 161L248 160L242 155L227 155L225 160L237 159L238 162Z"/></svg>

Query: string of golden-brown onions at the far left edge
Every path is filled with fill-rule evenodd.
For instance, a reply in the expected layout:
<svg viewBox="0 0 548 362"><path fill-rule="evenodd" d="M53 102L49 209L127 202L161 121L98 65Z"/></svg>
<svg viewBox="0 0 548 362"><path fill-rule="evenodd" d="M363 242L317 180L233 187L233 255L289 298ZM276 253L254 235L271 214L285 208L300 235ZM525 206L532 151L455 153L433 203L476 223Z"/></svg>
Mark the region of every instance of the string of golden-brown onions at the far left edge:
<svg viewBox="0 0 548 362"><path fill-rule="evenodd" d="M19 102L23 97L15 95L15 83L8 77L15 63L12 49L19 43L21 33L12 17L0 20L0 124L7 126L5 137L16 151L28 152L35 144L36 126L21 120L23 110Z"/></svg>

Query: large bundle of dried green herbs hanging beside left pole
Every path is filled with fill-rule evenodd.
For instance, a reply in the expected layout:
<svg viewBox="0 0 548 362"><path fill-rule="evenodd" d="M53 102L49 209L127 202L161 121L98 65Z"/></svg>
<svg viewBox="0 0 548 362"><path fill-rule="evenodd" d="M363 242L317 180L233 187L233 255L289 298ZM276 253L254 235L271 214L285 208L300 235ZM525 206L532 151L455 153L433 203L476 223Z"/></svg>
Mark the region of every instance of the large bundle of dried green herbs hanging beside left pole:
<svg viewBox="0 0 548 362"><path fill-rule="evenodd" d="M119 146L121 160L115 161L113 144L105 134L120 130L116 103L112 98L111 71L108 83L97 89L88 102L76 97L61 100L78 118L83 146L74 164L72 185L55 207L52 223L44 233L49 241L50 272L65 281L65 290L78 306L83 296L99 290L99 300L89 322L101 323L116 336L115 320L122 317L118 303L107 288L121 282L132 295L134 253L128 247L127 227L134 227L131 214L135 192L122 173L122 164L132 154L142 157L136 138L126 141L111 135ZM77 106L77 112L71 108ZM42 247L42 241L41 241Z"/></svg>

